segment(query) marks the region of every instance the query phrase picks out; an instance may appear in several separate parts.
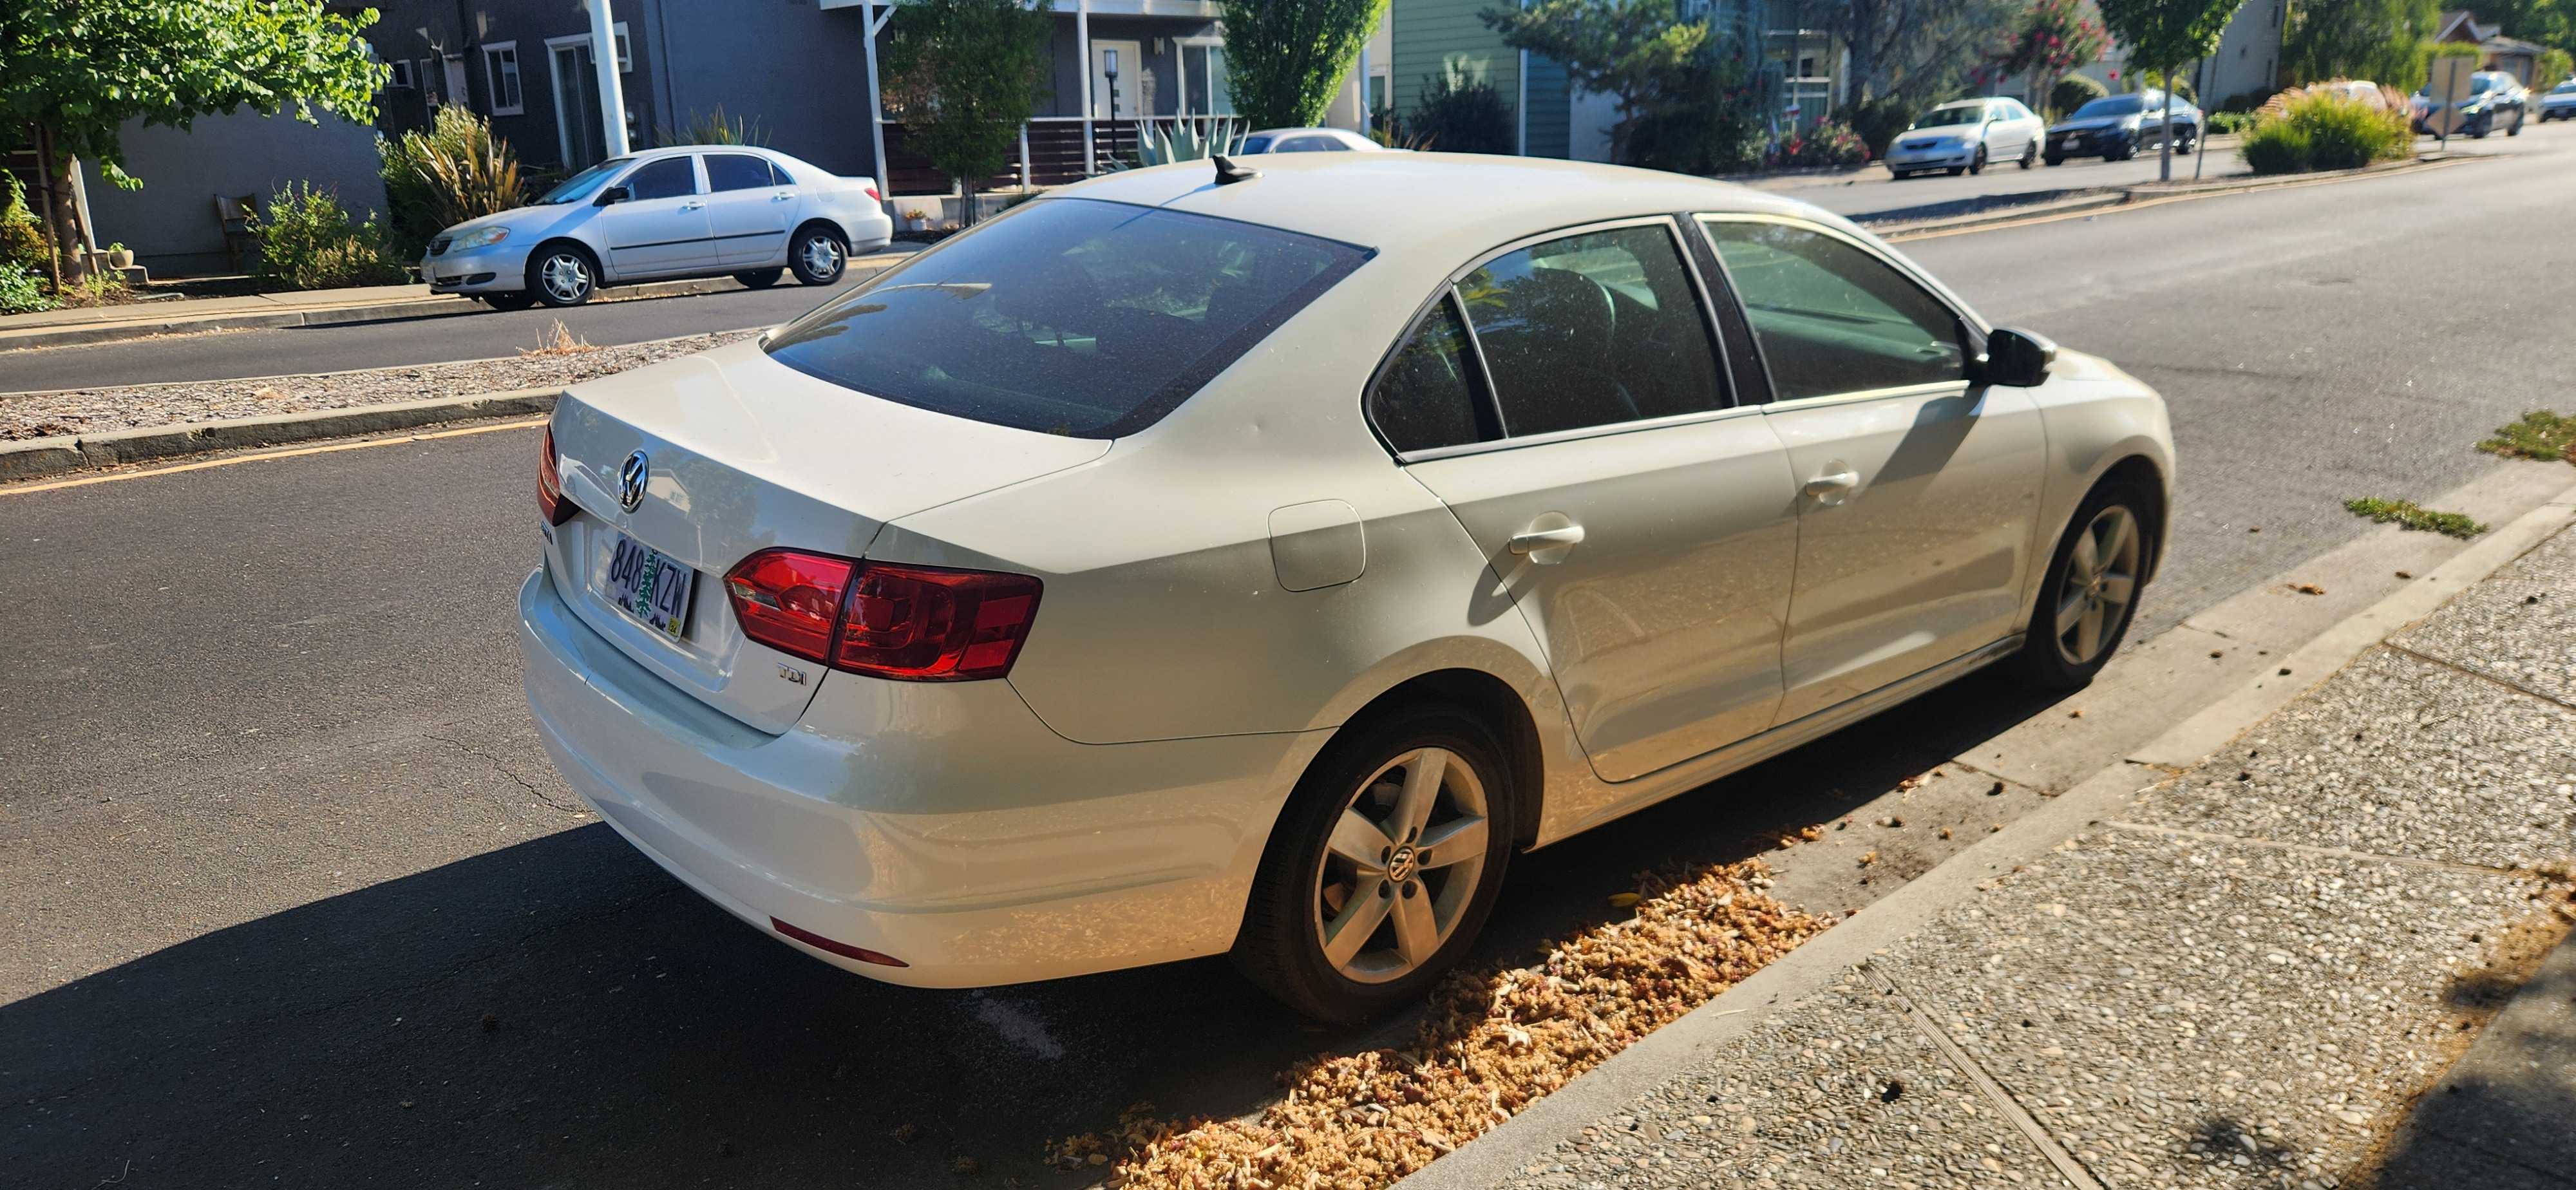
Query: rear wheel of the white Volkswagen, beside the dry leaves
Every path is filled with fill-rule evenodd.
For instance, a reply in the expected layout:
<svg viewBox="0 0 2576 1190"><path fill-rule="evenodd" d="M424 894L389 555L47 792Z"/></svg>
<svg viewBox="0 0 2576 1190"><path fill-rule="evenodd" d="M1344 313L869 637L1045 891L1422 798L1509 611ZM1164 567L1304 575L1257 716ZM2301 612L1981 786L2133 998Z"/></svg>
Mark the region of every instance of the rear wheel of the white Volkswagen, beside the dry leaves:
<svg viewBox="0 0 2576 1190"><path fill-rule="evenodd" d="M1494 729L1455 706L1345 729L1270 832L1234 966L1327 1023L1422 999L1494 912L1515 793Z"/></svg>

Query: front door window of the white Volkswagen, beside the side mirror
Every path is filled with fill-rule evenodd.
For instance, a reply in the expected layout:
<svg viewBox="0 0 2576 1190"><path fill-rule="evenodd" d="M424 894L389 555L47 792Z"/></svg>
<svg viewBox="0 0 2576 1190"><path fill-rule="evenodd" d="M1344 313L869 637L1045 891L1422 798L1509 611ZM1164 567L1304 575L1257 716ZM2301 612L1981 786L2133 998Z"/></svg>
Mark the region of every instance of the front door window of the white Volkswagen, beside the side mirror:
<svg viewBox="0 0 2576 1190"><path fill-rule="evenodd" d="M1958 314L1875 255L1803 227L1705 227L1754 325L1772 399L1965 379Z"/></svg>

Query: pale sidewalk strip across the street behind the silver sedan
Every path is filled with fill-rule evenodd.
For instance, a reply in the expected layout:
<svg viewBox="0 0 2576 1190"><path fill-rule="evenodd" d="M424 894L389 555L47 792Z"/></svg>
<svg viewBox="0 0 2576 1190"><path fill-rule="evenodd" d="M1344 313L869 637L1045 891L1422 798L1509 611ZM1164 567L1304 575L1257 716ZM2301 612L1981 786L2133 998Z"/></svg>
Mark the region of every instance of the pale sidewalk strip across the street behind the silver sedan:
<svg viewBox="0 0 2576 1190"><path fill-rule="evenodd" d="M876 252L850 258L850 268L886 268L889 263L920 250L922 245L909 242L886 245ZM598 301L716 294L726 288L742 288L742 283L729 276L644 281L636 286L600 288ZM44 309L36 314L0 317L0 350L111 343L144 335L191 335L201 330L322 327L343 322L479 314L482 309L487 309L482 301L453 294L430 294L430 286L353 286L219 299L149 299L121 307Z"/></svg>

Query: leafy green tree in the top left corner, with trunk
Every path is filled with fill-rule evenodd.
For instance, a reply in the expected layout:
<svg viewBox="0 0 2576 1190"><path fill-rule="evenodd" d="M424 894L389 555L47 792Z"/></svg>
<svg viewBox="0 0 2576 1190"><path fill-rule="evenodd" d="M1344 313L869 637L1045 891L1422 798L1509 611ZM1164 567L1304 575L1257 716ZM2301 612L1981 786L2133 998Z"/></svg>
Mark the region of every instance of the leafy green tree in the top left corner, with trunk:
<svg viewBox="0 0 2576 1190"><path fill-rule="evenodd" d="M0 118L36 142L54 245L80 240L72 162L90 157L116 185L126 121L188 129L198 116L312 108L376 118L386 70L358 31L376 10L327 13L325 0L8 0L0 5ZM80 276L54 255L57 283Z"/></svg>

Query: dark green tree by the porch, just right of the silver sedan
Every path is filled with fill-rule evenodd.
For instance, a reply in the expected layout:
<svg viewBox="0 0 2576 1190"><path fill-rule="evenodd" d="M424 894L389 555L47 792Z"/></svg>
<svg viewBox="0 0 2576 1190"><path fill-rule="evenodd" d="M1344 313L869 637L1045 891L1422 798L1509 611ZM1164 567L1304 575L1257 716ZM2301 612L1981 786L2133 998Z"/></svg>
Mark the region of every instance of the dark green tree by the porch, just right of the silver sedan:
<svg viewBox="0 0 2576 1190"><path fill-rule="evenodd" d="M1054 0L920 0L894 5L886 90L904 139L956 178L974 222L976 183L1002 173L1046 95ZM884 178L878 178L884 185Z"/></svg>

